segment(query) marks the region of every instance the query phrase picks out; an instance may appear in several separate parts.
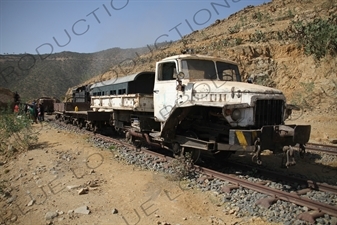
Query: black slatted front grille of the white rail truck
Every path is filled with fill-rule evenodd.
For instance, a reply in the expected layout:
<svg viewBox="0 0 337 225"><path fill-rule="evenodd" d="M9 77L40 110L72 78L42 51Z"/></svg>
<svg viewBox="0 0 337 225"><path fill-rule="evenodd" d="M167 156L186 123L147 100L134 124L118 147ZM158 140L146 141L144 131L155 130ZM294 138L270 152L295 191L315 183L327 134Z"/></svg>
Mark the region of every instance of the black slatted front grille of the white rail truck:
<svg viewBox="0 0 337 225"><path fill-rule="evenodd" d="M283 100L257 100L255 104L255 126L279 125L283 118Z"/></svg>

